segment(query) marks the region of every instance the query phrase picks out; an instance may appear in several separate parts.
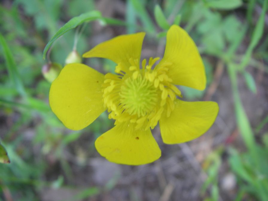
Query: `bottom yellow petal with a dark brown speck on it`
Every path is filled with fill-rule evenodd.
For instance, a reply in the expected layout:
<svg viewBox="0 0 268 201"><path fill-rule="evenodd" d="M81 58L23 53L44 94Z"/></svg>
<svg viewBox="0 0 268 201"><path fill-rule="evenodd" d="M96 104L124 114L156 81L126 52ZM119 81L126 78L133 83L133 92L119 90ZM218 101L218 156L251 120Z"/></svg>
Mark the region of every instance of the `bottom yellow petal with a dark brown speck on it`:
<svg viewBox="0 0 268 201"><path fill-rule="evenodd" d="M95 147L110 162L125 165L143 165L161 156L150 129L135 130L135 124L128 122L117 124L98 137Z"/></svg>

